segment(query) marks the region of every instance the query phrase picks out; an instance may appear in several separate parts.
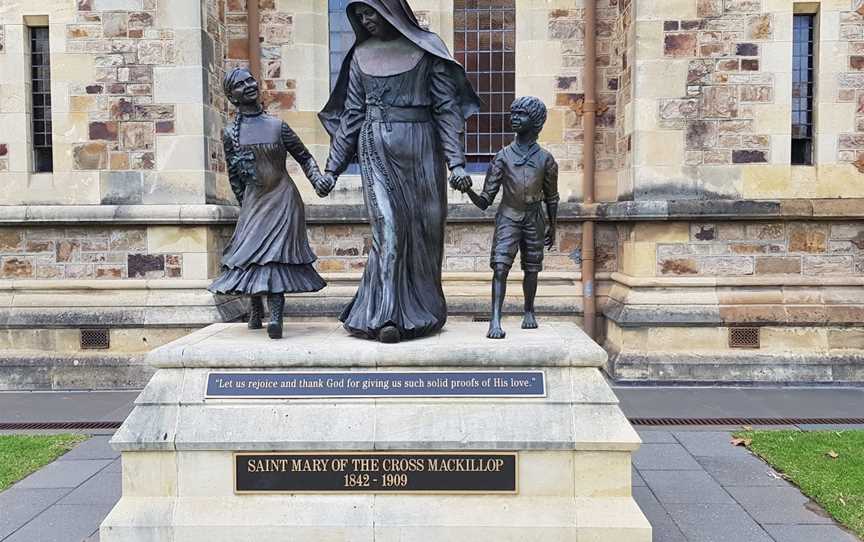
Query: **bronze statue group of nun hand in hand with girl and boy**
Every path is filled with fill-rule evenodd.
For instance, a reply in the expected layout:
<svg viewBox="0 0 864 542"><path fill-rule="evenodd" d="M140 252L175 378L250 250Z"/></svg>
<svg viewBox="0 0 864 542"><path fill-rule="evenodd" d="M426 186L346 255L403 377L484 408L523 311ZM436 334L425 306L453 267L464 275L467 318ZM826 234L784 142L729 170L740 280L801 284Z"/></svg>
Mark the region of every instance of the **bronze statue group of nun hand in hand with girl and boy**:
<svg viewBox="0 0 864 542"><path fill-rule="evenodd" d="M517 253L525 274L522 327L537 327L534 297L545 247L552 247L558 212L558 166L537 144L546 107L522 97L511 107L516 133L489 165L480 194L465 171L465 119L480 99L441 38L420 27L406 0L356 0L347 13L356 40L319 114L331 137L322 173L281 120L267 115L258 83L237 68L224 91L237 108L223 134L231 188L241 205L237 227L210 286L251 296L249 328L282 337L286 293L314 292L326 283L313 267L303 201L285 168L297 161L320 197L356 158L372 229L360 286L340 316L351 334L384 343L423 337L447 320L441 284L447 179L481 209L502 192L490 265L494 271L487 337L503 338L507 275ZM431 152L430 152L431 150Z"/></svg>

